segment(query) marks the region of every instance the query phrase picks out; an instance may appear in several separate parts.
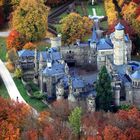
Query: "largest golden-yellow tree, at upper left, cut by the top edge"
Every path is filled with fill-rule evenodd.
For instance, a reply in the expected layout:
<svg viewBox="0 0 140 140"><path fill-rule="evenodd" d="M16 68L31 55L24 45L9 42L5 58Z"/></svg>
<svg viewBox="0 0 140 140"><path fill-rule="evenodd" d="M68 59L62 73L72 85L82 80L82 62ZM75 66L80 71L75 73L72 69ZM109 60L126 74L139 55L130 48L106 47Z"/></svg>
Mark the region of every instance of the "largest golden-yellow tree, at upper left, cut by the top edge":
<svg viewBox="0 0 140 140"><path fill-rule="evenodd" d="M21 0L12 13L11 26L27 41L37 41L46 35L47 16L48 8L42 0Z"/></svg>

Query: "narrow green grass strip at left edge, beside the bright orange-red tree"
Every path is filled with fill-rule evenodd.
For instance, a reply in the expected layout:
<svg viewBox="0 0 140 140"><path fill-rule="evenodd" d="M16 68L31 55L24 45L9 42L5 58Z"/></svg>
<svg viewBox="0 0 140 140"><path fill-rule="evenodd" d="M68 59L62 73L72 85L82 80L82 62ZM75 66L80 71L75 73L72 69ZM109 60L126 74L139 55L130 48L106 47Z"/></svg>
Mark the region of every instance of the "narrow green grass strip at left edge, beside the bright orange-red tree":
<svg viewBox="0 0 140 140"><path fill-rule="evenodd" d="M6 38L0 37L0 59L6 60Z"/></svg>

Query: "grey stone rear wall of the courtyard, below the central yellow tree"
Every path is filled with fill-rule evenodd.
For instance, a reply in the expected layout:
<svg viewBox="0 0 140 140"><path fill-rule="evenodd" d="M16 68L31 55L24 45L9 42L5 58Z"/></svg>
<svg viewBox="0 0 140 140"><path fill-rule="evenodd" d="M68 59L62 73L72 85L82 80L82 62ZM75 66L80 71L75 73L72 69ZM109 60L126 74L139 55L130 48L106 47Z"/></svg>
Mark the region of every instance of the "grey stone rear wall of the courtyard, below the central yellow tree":
<svg viewBox="0 0 140 140"><path fill-rule="evenodd" d="M60 48L62 57L66 62L73 61L76 66L96 66L96 50L88 45L80 47L77 45Z"/></svg>

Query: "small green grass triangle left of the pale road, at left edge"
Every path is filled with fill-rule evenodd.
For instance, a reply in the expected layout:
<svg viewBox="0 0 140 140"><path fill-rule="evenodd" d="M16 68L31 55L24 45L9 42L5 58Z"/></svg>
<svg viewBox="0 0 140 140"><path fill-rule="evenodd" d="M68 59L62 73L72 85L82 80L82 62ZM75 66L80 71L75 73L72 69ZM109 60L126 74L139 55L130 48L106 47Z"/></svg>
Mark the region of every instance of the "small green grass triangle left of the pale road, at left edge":
<svg viewBox="0 0 140 140"><path fill-rule="evenodd" d="M0 97L5 98L5 99L9 99L9 94L8 91L2 81L2 79L0 79Z"/></svg>

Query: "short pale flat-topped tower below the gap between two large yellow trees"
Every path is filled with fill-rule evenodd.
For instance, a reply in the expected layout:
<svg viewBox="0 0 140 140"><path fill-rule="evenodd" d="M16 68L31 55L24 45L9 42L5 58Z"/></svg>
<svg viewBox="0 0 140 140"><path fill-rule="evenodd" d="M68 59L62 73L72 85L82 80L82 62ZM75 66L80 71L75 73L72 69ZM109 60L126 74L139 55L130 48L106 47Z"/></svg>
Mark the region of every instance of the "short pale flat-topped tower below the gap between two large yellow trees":
<svg viewBox="0 0 140 140"><path fill-rule="evenodd" d="M52 48L60 48L61 47L61 34L58 34L57 37L50 38L51 47Z"/></svg>

